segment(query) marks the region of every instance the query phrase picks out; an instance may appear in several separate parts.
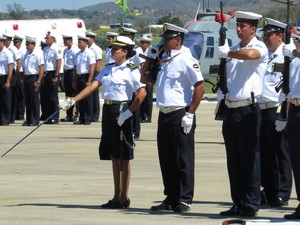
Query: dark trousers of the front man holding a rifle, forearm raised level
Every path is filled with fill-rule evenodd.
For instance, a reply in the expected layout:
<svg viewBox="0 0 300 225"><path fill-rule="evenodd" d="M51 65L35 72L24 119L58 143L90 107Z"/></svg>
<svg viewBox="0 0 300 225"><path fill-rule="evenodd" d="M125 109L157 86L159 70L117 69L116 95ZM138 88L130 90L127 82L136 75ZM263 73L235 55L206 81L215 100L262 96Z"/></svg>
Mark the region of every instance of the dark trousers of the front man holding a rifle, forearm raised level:
<svg viewBox="0 0 300 225"><path fill-rule="evenodd" d="M227 155L231 198L241 209L260 206L259 106L227 108L222 133Z"/></svg>

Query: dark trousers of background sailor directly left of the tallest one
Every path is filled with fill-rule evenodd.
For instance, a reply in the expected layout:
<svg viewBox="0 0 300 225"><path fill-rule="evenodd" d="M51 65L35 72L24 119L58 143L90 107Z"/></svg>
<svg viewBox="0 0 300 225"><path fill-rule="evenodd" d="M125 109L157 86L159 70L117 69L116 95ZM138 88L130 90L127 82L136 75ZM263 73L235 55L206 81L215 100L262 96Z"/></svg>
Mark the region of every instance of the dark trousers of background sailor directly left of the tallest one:
<svg viewBox="0 0 300 225"><path fill-rule="evenodd" d="M34 83L37 81L37 79L38 74L25 75L24 79L27 124L38 124L40 122L39 91L34 90Z"/></svg>

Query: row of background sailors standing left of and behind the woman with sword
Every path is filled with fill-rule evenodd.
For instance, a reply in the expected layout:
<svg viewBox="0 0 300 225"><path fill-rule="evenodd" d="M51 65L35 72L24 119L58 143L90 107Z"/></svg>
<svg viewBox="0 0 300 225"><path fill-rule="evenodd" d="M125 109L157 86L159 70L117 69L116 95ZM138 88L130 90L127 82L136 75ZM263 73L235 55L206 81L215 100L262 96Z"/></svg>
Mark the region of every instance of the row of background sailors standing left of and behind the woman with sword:
<svg viewBox="0 0 300 225"><path fill-rule="evenodd" d="M134 29L124 28L122 35L134 39L135 33ZM65 95L74 97L100 71L102 49L95 43L96 35L86 32L85 36L78 36L78 46L73 44L72 36L62 35L66 46L63 52L56 45L58 36L54 32L47 32L41 48L35 37L26 36L25 52L21 48L23 37L3 34L0 37L0 85L3 87L0 90L0 125L9 125L15 120L23 119L23 126L37 126L40 120L46 120L45 124L59 123L58 88L61 67L64 71L62 83ZM106 33L106 64L113 63L111 43L117 35L115 32ZM141 45L147 42L145 46L148 48L152 39L141 35L138 40ZM143 59L138 55L145 50L137 48L137 54L130 62L140 66ZM99 92L95 92L75 109L68 110L66 118L60 121L89 125L99 121L99 115ZM51 118L48 120L49 117Z"/></svg>

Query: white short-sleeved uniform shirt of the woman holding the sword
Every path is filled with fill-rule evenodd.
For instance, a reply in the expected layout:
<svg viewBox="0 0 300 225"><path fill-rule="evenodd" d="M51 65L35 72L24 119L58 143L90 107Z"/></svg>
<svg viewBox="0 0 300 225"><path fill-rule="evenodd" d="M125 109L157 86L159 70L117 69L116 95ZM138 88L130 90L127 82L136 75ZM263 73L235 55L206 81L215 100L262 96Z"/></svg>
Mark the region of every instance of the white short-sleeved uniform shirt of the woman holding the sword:
<svg viewBox="0 0 300 225"><path fill-rule="evenodd" d="M140 82L141 74L138 68L128 66L127 60L120 66L115 63L106 65L96 76L102 83L102 98L114 101L130 101L132 94L145 84Z"/></svg>

